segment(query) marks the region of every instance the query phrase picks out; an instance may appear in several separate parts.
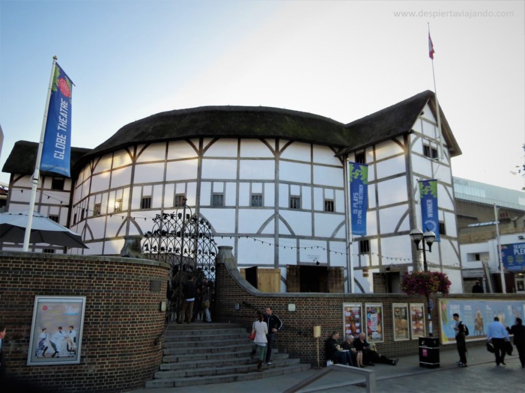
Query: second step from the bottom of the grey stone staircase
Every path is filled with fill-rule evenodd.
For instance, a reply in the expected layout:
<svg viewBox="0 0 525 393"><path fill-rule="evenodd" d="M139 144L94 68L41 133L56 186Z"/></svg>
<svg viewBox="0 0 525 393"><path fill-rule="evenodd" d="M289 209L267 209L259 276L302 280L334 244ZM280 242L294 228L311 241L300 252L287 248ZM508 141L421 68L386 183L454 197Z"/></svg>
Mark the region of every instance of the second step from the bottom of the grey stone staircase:
<svg viewBox="0 0 525 393"><path fill-rule="evenodd" d="M272 359L271 365L268 365L269 368L275 367L287 367L292 364L299 363L299 359ZM211 376L211 375L223 375L223 374L238 374L238 373L247 373L254 371L257 368L257 361L252 360L248 364L232 364L229 366L219 366L219 367L203 367L203 368L186 368L180 370L166 370L158 371L155 373L155 379L165 379L165 378L187 378L187 377L201 377L201 376Z"/></svg>

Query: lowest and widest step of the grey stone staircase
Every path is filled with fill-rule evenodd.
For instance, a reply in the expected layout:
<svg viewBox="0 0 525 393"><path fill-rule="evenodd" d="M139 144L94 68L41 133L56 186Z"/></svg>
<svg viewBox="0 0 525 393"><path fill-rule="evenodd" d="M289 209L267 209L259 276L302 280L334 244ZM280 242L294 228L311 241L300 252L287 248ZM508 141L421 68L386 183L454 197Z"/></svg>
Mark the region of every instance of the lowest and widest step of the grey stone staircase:
<svg viewBox="0 0 525 393"><path fill-rule="evenodd" d="M271 366L274 366L272 364ZM278 375L285 375L290 373L297 373L310 368L310 364L295 363L289 366L282 367L270 367L267 365L262 366L262 372L257 372L255 368L247 370L244 373L232 373L223 375L211 375L211 376L196 376L186 378L162 378L153 379L146 382L146 388L170 388L170 387L182 387L182 386L194 386L194 385L209 385L209 384L220 384L227 382L235 382L241 380L260 379L274 377Z"/></svg>

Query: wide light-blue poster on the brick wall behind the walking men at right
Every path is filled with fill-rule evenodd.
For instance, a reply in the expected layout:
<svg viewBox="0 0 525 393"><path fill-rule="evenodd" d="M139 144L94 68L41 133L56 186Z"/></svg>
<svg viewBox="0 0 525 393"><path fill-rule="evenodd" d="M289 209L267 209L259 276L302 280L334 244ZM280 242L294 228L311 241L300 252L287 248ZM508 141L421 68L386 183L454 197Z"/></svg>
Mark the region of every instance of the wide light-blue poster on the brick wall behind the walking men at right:
<svg viewBox="0 0 525 393"><path fill-rule="evenodd" d="M516 318L523 319L525 301L518 300L474 300L474 299L439 299L439 320L441 322L441 343L456 342L456 322L454 313L467 325L469 335L467 341L487 339L487 326L497 316L506 326L515 323Z"/></svg>

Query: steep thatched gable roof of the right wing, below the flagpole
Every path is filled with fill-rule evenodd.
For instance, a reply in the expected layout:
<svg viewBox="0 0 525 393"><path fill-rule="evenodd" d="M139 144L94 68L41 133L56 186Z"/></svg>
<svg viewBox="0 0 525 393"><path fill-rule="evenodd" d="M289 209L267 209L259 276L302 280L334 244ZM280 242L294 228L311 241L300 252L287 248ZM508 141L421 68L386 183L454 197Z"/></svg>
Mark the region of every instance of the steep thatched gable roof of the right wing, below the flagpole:
<svg viewBox="0 0 525 393"><path fill-rule="evenodd" d="M432 91L426 90L381 111L346 124L345 128L350 131L349 144L341 149L338 155L345 155L372 144L412 133L412 126L423 111L426 103L429 103L430 110L436 118L435 95ZM442 133L450 151L450 156L459 156L461 149L450 130L441 107L439 107L439 110Z"/></svg>

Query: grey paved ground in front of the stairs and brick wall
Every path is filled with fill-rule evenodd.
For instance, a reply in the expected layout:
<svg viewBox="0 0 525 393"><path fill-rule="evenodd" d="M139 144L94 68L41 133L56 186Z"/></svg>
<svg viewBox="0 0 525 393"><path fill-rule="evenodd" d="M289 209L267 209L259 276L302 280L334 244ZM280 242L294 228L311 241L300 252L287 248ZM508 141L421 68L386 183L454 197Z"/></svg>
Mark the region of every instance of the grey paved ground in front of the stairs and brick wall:
<svg viewBox="0 0 525 393"><path fill-rule="evenodd" d="M516 393L525 389L525 369L521 368L516 348L513 356L506 357L506 366L497 367L494 355L487 352L485 346L469 349L467 368L457 367L458 359L456 351L441 351L439 368L419 367L418 355L412 355L401 357L397 366L378 364L367 369L373 369L376 373L377 393ZM228 384L138 389L132 393L282 393L317 372L310 369L302 373ZM363 386L356 386L363 382L364 377L331 372L300 392L364 393Z"/></svg>

